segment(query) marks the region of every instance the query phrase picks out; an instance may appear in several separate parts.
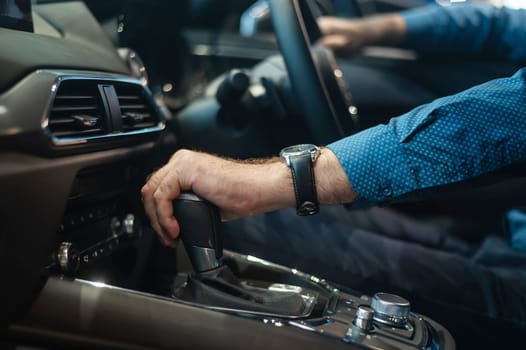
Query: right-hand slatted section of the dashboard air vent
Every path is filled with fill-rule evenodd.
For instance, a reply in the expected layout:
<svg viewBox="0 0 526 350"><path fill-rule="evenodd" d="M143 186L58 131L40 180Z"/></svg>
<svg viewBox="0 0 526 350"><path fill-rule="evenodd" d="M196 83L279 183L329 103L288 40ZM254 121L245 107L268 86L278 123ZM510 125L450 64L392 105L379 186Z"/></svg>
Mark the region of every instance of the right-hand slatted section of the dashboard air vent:
<svg viewBox="0 0 526 350"><path fill-rule="evenodd" d="M152 108L152 102L140 85L115 84L122 116L122 131L152 128L159 120Z"/></svg>

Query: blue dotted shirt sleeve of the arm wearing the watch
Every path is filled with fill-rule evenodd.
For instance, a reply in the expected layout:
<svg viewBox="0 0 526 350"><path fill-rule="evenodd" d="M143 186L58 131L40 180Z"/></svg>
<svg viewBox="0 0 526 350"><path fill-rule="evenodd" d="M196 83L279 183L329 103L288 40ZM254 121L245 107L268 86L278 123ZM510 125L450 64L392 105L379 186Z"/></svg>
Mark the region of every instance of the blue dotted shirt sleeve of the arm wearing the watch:
<svg viewBox="0 0 526 350"><path fill-rule="evenodd" d="M361 205L526 160L526 68L328 145ZM360 205L360 204L359 204Z"/></svg>

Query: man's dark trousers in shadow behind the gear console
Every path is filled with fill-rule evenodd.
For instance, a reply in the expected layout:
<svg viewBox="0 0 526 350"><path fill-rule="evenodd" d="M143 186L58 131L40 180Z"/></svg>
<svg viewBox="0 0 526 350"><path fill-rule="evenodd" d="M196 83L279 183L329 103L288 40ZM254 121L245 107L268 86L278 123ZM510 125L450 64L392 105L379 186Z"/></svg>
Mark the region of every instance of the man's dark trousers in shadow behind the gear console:
<svg viewBox="0 0 526 350"><path fill-rule="evenodd" d="M526 340L526 254L489 235L467 243L387 208L282 210L224 225L225 247L294 267L364 294L407 298L459 349ZM524 344L524 343L523 343Z"/></svg>

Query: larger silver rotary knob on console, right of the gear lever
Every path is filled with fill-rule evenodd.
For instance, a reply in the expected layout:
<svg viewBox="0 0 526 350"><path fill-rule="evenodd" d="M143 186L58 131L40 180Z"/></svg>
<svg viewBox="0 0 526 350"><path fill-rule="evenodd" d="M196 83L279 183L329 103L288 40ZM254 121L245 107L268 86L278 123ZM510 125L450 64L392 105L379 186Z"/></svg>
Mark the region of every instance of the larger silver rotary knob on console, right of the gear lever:
<svg viewBox="0 0 526 350"><path fill-rule="evenodd" d="M401 296L376 293L371 300L374 320L393 327L404 327L411 311L411 304Z"/></svg>

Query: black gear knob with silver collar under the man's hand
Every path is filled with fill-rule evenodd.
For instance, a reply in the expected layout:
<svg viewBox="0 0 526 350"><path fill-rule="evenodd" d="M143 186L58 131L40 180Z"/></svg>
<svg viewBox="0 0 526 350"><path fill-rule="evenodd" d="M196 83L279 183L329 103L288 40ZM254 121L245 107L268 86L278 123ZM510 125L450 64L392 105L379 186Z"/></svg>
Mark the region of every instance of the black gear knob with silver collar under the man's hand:
<svg viewBox="0 0 526 350"><path fill-rule="evenodd" d="M184 247L196 272L210 271L223 263L219 209L194 193L185 192L173 201Z"/></svg>

